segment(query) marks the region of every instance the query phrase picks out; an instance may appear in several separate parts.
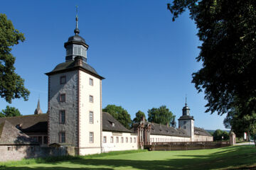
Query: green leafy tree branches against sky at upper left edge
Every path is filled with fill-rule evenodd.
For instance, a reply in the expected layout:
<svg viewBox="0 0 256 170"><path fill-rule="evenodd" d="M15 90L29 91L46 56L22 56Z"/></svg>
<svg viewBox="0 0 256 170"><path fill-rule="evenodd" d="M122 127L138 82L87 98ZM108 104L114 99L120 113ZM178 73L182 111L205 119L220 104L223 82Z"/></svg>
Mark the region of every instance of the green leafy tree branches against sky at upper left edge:
<svg viewBox="0 0 256 170"><path fill-rule="evenodd" d="M8 103L14 98L28 100L29 91L24 87L24 80L14 72L15 57L10 53L11 46L24 40L23 33L19 33L6 15L0 13L0 96Z"/></svg>

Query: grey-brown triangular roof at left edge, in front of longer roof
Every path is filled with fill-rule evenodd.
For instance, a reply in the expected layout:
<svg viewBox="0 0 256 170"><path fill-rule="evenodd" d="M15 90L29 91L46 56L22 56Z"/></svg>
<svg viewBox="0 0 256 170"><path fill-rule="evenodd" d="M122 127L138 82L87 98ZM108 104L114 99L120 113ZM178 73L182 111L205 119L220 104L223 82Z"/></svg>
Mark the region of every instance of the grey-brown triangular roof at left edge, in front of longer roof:
<svg viewBox="0 0 256 170"><path fill-rule="evenodd" d="M0 123L0 145L38 145L28 135L14 127L8 120Z"/></svg>

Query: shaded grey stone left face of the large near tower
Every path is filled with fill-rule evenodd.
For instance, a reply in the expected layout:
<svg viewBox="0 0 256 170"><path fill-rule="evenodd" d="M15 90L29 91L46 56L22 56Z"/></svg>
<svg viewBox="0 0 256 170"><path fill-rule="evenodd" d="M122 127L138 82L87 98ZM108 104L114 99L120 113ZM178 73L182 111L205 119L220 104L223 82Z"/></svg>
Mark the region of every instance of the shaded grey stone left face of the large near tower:
<svg viewBox="0 0 256 170"><path fill-rule="evenodd" d="M66 83L60 84L60 77ZM49 144L59 143L59 133L65 132L65 143L78 146L78 71L50 76L49 82ZM65 94L65 102L60 102ZM60 123L60 110L65 110L65 123Z"/></svg>

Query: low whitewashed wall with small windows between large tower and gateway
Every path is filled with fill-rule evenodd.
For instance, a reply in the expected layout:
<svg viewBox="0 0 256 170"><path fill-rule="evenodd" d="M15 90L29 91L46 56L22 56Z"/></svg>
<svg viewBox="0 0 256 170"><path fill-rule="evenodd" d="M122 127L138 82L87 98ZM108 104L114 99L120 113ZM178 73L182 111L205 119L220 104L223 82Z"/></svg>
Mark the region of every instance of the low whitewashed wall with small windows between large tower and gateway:
<svg viewBox="0 0 256 170"><path fill-rule="evenodd" d="M103 142L103 137L107 138L107 141ZM113 142L110 142L111 137L113 137ZM119 141L117 142L117 137ZM124 142L122 143L122 137ZM128 137L128 142L126 138ZM132 137L132 142L130 141ZM136 139L136 141L134 141ZM132 134L129 132L102 132L102 152L110 151L120 151L120 150L132 150L138 149L138 139L137 134Z"/></svg>

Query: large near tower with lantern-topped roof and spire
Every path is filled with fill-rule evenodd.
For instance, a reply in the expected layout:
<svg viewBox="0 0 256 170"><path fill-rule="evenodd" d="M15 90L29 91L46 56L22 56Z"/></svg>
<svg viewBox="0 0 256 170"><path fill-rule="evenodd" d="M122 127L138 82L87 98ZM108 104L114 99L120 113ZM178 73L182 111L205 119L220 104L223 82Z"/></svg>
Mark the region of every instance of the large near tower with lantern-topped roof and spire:
<svg viewBox="0 0 256 170"><path fill-rule="evenodd" d="M78 35L68 38L65 62L48 75L48 144L73 145L76 154L96 154L102 147L102 79L87 64L88 45Z"/></svg>

